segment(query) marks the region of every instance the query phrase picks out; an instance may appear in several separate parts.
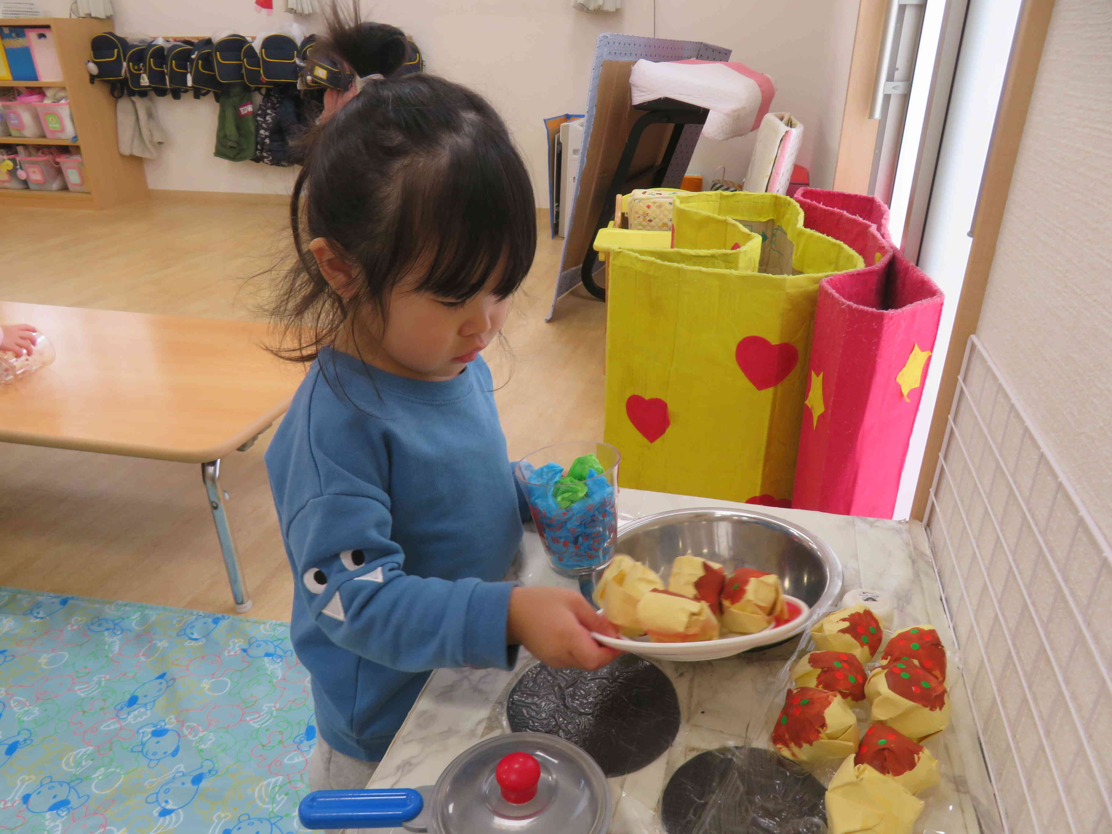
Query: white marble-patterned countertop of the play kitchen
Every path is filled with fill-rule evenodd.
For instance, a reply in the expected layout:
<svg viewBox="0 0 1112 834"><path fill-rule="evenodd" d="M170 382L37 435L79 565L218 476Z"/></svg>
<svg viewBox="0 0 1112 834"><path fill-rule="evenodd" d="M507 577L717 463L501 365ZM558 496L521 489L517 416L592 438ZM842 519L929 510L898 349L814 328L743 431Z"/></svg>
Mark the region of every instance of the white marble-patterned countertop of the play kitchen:
<svg viewBox="0 0 1112 834"><path fill-rule="evenodd" d="M736 507L729 502L623 489L619 524L668 509ZM748 507L753 509L753 507ZM976 729L961 681L961 658L954 651L933 560L917 524L834 516L807 510L759 507L759 512L798 524L824 539L844 569L843 593L868 587L893 602L895 628L933 623L951 654L953 697L951 727L927 746L942 765L943 783L920 817L916 834L993 834L1001 831L992 786L981 757ZM517 576L526 585L576 583L557 576L536 534L527 533ZM681 728L672 748L649 766L610 780L615 802L612 834L662 834L656 807L671 774L698 753L723 744L765 745L768 728L783 703L787 671L798 641L757 653L709 663L661 663L681 704ZM405 725L368 787L431 785L459 753L495 733L508 732L506 696L534 661L523 652L512 672L440 669L433 674ZM858 711L864 721L865 711ZM824 783L827 765L815 772ZM383 831L383 830L378 830ZM391 834L404 834L400 828Z"/></svg>

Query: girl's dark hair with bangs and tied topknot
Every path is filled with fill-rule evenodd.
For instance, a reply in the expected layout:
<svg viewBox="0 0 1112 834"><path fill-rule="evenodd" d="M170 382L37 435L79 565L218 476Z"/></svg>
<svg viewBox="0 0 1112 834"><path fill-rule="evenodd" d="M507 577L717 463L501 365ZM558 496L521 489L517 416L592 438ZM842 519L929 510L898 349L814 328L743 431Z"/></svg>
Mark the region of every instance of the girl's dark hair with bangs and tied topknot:
<svg viewBox="0 0 1112 834"><path fill-rule="evenodd" d="M325 19L310 58L350 78L329 86L330 118L308 136L290 199L294 257L267 305L281 331L272 349L295 361L316 359L357 321L384 327L403 284L448 301L508 297L537 246L529 173L490 105L425 72L391 78L405 36L360 22L357 6L327 7ZM357 83L375 75L385 78ZM317 238L350 266L350 296L321 275L308 248Z"/></svg>

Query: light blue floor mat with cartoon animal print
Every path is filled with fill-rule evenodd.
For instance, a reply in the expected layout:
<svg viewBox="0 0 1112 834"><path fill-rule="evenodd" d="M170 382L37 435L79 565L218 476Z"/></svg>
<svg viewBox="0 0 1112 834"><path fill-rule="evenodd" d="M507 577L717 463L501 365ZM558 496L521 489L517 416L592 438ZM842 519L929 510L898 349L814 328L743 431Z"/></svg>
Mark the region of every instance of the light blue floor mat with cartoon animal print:
<svg viewBox="0 0 1112 834"><path fill-rule="evenodd" d="M0 832L299 832L315 742L286 623L0 588Z"/></svg>

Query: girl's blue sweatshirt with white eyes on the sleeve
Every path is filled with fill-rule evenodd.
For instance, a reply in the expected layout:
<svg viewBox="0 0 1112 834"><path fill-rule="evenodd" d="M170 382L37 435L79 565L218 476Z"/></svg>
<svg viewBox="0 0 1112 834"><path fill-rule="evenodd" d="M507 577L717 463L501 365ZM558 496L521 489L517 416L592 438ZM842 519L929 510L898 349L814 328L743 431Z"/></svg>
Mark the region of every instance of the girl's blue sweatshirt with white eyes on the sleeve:
<svg viewBox="0 0 1112 834"><path fill-rule="evenodd" d="M379 761L430 669L516 659L498 580L527 513L493 387L481 357L427 383L326 348L267 450L290 638L340 753Z"/></svg>

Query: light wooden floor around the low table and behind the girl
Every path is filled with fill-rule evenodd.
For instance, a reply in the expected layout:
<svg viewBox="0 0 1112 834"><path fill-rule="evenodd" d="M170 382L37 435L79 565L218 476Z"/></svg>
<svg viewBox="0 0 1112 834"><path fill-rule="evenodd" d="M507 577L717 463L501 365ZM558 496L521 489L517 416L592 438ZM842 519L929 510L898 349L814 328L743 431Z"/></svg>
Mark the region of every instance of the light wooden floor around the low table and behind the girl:
<svg viewBox="0 0 1112 834"><path fill-rule="evenodd" d="M256 318L245 278L284 251L285 206L156 195L107 211L0 209L0 299ZM508 353L487 351L505 384L495 396L510 456L602 437L605 308L580 289L544 320L562 242L542 229ZM271 434L227 458L221 479L249 616L288 619L292 580L262 461ZM199 467L10 444L0 444L0 585L234 610Z"/></svg>

